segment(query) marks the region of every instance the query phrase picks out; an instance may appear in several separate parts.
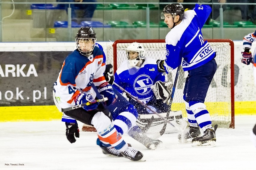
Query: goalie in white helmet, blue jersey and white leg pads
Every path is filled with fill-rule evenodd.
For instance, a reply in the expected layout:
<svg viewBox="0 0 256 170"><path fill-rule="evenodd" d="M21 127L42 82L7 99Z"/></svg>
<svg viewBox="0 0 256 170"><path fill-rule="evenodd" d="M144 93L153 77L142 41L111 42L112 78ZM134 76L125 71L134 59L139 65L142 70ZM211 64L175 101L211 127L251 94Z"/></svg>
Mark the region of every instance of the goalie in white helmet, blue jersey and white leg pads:
<svg viewBox="0 0 256 170"><path fill-rule="evenodd" d="M152 110L160 113L163 117L166 117L168 105L166 104L169 99L171 83L165 82L166 77L163 73L157 70L156 60L150 57L145 57L145 49L142 44L138 42L131 43L127 49L127 60L125 60L114 74L114 84L112 85L120 93L123 93L117 85L125 89L132 96L142 101ZM115 85L117 84L117 85ZM125 96L126 94L123 93ZM137 125L141 128L150 122L154 112L146 109L138 101L126 96L129 102L136 107L139 113L137 119ZM181 112L170 112L168 120L176 120L178 122L183 121ZM152 121L151 121L152 123ZM160 118L154 118L151 125L151 129L148 133L156 133L163 128L164 121ZM175 128L166 128L166 132L176 132ZM150 134L151 135L151 134ZM160 136L157 136L160 137ZM152 138L155 138L155 136Z"/></svg>

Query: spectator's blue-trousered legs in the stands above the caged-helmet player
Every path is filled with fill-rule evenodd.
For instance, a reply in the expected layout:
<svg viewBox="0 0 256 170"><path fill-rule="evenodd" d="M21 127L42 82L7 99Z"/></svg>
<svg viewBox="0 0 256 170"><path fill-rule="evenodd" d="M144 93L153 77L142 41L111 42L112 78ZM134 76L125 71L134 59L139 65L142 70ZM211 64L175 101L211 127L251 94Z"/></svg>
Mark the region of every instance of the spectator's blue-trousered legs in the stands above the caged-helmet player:
<svg viewBox="0 0 256 170"><path fill-rule="evenodd" d="M56 0L57 2L97 2L96 0ZM58 4L59 6L65 6L66 11L68 12L69 4ZM71 18L72 21L78 22L78 17L75 12L75 9L84 10L83 17L81 21L91 21L93 17L94 10L97 7L97 4L70 4L71 7Z"/></svg>

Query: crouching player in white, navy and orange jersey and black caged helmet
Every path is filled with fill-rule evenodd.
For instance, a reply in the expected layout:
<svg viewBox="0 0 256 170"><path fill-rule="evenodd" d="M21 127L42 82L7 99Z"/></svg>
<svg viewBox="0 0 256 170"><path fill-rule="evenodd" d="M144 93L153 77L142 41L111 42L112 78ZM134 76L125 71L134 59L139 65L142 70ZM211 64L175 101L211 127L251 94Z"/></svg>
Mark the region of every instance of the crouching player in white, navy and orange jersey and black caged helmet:
<svg viewBox="0 0 256 170"><path fill-rule="evenodd" d="M66 122L66 136L69 142L79 137L77 121L96 128L99 139L109 143L117 149L121 156L130 160L141 160L143 154L132 148L117 132L111 120L106 116L109 111L102 103L96 101L96 93L92 86L96 86L100 95L107 97L106 105L114 103L116 94L103 75L105 71L105 58L102 51L95 46L96 33L92 27L81 27L76 35L77 49L69 54L54 84L55 98L61 108L91 103L82 108L66 111L62 121ZM66 118L65 118L66 115Z"/></svg>

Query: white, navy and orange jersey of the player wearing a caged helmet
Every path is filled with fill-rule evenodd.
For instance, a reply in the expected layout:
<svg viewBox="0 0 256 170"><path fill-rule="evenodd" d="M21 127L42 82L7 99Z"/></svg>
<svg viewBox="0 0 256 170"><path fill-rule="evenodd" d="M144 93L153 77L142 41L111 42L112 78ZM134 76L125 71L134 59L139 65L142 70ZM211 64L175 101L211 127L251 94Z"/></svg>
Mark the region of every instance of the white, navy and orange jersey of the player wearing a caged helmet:
<svg viewBox="0 0 256 170"><path fill-rule="evenodd" d="M61 68L59 77L54 84L55 97L60 107L75 105L79 93L91 94L96 97L92 84L99 86L105 83L105 57L102 51L95 47L89 57L80 54L78 50L69 54Z"/></svg>

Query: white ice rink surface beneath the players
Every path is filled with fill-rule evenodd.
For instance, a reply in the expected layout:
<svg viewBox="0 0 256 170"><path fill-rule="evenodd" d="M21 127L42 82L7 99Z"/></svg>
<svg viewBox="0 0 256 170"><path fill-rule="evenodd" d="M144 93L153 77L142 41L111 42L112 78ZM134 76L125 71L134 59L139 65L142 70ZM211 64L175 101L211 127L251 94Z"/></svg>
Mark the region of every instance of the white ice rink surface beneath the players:
<svg viewBox="0 0 256 170"><path fill-rule="evenodd" d="M4 122L0 123L0 169L255 170L256 148L249 135L255 123L256 116L236 116L235 129L217 129L217 146L213 148L179 143L177 133L172 133L161 136L163 144L157 150L147 150L124 135L126 142L140 150L146 159L146 162L133 162L102 154L96 145L95 132L80 131L80 138L69 143L66 126L60 121Z"/></svg>

